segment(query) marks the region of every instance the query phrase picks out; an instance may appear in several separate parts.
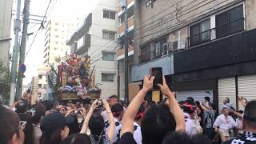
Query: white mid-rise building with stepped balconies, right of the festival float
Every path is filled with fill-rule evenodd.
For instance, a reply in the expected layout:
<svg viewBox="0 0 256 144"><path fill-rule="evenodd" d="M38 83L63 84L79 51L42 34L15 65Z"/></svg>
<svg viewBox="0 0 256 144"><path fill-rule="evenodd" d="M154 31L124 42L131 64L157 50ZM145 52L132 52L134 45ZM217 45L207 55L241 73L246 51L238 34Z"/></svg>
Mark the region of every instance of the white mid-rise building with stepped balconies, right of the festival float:
<svg viewBox="0 0 256 144"><path fill-rule="evenodd" d="M117 94L117 10L117 0L101 0L66 42L71 46L71 54L90 58L90 68L95 66L96 84L102 89L102 98Z"/></svg>

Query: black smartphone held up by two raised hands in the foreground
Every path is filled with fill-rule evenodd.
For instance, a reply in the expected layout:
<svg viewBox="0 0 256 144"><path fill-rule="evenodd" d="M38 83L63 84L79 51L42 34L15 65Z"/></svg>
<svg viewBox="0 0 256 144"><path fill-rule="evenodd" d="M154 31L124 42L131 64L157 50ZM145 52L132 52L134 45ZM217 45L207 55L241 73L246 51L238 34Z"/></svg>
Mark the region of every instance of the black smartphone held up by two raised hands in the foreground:
<svg viewBox="0 0 256 144"><path fill-rule="evenodd" d="M154 90L159 90L158 84L162 84L162 67L153 67L150 69L150 76L154 76Z"/></svg>

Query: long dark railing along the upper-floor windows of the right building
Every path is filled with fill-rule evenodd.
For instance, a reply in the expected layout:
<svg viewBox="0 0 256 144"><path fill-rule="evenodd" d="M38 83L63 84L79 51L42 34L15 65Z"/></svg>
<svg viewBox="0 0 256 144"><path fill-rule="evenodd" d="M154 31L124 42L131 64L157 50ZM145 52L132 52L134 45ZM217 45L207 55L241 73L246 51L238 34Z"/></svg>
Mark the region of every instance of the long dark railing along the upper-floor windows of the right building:
<svg viewBox="0 0 256 144"><path fill-rule="evenodd" d="M203 31L199 34L194 34L189 38L179 39L175 42L167 42L161 48L155 51L146 52L139 56L140 62L147 62L150 59L159 58L167 54L174 53L175 51L190 49L190 47L198 46L202 43L210 42L218 38L223 38L231 34L235 34L243 31L244 18L239 18L232 22L224 23L220 26L216 26L213 29ZM233 28L233 29L230 29Z"/></svg>

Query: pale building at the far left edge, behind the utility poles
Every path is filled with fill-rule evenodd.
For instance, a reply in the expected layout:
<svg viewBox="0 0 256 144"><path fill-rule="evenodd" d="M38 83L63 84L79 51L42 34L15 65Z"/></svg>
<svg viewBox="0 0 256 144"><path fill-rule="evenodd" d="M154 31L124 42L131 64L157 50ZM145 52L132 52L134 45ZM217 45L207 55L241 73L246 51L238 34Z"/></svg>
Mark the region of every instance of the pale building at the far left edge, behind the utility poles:
<svg viewBox="0 0 256 144"><path fill-rule="evenodd" d="M0 1L0 60L9 64L12 0Z"/></svg>

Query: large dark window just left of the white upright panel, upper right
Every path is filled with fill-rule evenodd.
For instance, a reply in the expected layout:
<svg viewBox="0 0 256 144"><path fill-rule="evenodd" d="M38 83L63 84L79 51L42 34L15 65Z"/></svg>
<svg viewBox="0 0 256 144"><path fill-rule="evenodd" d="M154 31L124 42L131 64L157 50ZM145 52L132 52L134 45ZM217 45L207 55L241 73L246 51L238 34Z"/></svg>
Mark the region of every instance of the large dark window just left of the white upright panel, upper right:
<svg viewBox="0 0 256 144"><path fill-rule="evenodd" d="M190 46L210 41L210 18L190 26Z"/></svg>

